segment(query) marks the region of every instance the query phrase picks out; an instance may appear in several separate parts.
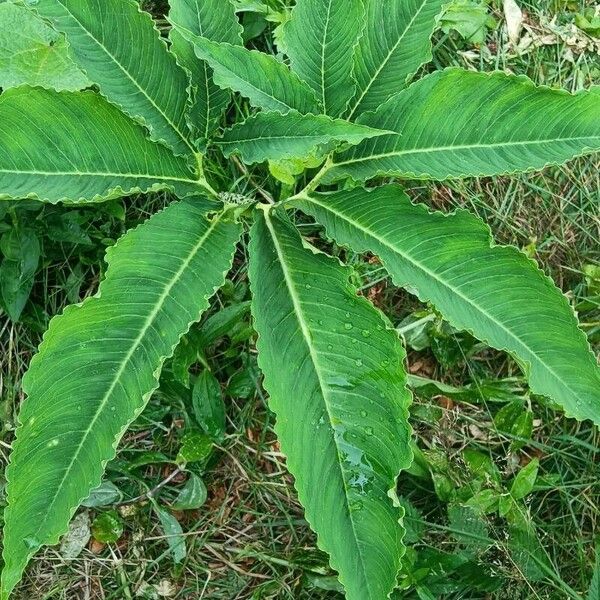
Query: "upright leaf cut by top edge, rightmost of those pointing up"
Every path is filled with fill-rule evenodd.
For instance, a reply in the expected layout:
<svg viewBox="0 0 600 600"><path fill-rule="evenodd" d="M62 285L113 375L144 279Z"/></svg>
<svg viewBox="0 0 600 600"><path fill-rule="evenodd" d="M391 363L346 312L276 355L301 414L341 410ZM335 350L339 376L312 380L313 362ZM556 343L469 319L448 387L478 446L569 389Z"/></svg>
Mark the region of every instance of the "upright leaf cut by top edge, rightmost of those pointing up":
<svg viewBox="0 0 600 600"><path fill-rule="evenodd" d="M445 0L365 0L366 26L354 58L350 116L375 110L431 60L431 36Z"/></svg>

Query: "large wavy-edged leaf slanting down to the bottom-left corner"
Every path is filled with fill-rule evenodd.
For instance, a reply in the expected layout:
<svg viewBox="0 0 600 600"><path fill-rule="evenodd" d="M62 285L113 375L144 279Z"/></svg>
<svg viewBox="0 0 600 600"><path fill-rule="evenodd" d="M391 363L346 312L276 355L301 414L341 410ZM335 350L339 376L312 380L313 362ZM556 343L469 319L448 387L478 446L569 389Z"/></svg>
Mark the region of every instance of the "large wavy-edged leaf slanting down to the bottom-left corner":
<svg viewBox="0 0 600 600"><path fill-rule="evenodd" d="M201 199L169 206L108 251L99 293L52 320L24 380L7 471L5 600L65 533L158 375L222 285L240 228Z"/></svg>

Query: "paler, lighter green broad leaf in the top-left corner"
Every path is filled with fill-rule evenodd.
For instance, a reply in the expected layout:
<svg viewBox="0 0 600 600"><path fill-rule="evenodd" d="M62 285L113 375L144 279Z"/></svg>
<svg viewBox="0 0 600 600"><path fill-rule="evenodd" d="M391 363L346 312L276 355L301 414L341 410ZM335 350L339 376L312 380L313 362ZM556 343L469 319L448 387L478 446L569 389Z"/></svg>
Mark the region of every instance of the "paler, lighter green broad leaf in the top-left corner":
<svg viewBox="0 0 600 600"><path fill-rule="evenodd" d="M0 4L0 87L39 85L80 90L90 85L69 56L65 37L24 6Z"/></svg>

